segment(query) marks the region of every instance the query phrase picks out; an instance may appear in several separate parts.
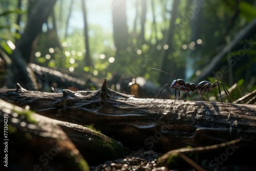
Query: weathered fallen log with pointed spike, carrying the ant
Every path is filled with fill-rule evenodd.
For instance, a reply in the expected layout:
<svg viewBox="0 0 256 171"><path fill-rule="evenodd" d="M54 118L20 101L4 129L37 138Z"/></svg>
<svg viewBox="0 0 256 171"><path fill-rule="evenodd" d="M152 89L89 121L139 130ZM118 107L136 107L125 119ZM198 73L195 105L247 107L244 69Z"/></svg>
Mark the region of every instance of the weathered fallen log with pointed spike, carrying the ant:
<svg viewBox="0 0 256 171"><path fill-rule="evenodd" d="M139 99L106 87L98 91L45 93L0 90L0 99L29 105L40 115L80 125L94 124L106 136L131 149L165 153L187 145L207 146L241 139L254 146L256 106L202 101Z"/></svg>

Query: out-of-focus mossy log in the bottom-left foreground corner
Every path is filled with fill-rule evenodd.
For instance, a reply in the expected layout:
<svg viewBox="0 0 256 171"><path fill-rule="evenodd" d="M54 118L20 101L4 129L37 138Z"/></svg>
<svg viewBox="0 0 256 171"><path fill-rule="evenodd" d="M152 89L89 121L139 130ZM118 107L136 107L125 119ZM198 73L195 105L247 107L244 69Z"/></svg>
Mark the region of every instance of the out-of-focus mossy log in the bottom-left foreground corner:
<svg viewBox="0 0 256 171"><path fill-rule="evenodd" d="M53 119L0 100L0 121L5 145L2 170L90 170Z"/></svg>

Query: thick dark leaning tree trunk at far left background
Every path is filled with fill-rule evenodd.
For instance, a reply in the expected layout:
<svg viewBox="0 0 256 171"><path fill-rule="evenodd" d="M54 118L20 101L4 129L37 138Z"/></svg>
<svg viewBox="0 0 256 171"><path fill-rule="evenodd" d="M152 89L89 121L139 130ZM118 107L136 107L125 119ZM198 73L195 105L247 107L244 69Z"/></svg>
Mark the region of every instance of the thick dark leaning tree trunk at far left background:
<svg viewBox="0 0 256 171"><path fill-rule="evenodd" d="M36 80L33 72L27 68L30 61L32 44L36 36L42 30L42 24L47 22L47 18L53 9L56 0L38 0L31 3L28 9L28 23L21 38L15 43L16 49L11 55L13 62L10 71L12 72L9 88L15 86L16 82L29 90L36 90Z"/></svg>

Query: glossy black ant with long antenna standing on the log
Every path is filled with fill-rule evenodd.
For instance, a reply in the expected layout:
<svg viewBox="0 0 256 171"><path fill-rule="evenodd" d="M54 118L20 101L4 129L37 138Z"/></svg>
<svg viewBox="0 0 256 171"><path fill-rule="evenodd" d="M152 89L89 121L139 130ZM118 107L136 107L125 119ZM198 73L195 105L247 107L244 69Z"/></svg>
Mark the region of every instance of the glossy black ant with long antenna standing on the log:
<svg viewBox="0 0 256 171"><path fill-rule="evenodd" d="M187 92L187 95L188 95L188 97L190 98L190 100L191 100L191 97L190 97L190 95L189 95L189 92L190 92L190 91L191 91L191 92L194 92L195 90L197 90L197 92L201 95L201 97L202 97L203 100L204 100L204 97L203 97L203 95L202 95L202 92L204 91L205 93L209 93L212 89L214 89L214 88L217 87L217 86L218 86L218 88L219 88L219 94L220 94L220 97L221 97L220 84L222 85L225 94L226 94L226 95L227 95L227 93L229 94L229 92L228 92L226 86L224 85L224 83L223 83L223 82L219 82L218 80L216 80L216 81L215 81L214 83L212 83L212 84L211 84L209 81L201 81L201 82L199 82L199 83L197 84L197 86L196 86L195 83L188 83L188 82L185 82L183 79L177 79L177 78L176 78L175 76L173 76L172 74L169 74L169 73L164 72L164 71L162 71L162 70L159 70L159 69L156 69L156 68L151 68L151 69L161 71L161 72L166 73L166 74L168 74L168 75L170 75L170 76L172 76L172 77L175 78L175 80L172 82L172 84L166 83L166 84L163 86L163 88L162 88L162 89L158 92L158 94L156 95L155 99L156 99L157 96L162 92L162 90L164 89L165 86L169 86L170 89L175 89L175 100L176 100L176 97L178 96L178 95L176 96L176 90L177 90L177 89L179 89L179 91L178 91L178 93L179 93L179 100L180 100L180 90ZM179 86L179 87L177 87L177 86ZM229 94L229 96L230 96L230 94ZM228 97L228 95L227 95L227 97ZM154 99L154 100L155 100L155 99ZM232 101L231 101L230 99L231 99ZM153 100L153 101L154 101L154 100ZM175 100L174 100L174 104L175 104ZM230 98L228 97L228 100L230 101L230 103L234 103L231 96L230 96ZM204 100L204 101L205 101L205 100ZM221 103L222 103L222 105L223 105L222 97L221 97Z"/></svg>

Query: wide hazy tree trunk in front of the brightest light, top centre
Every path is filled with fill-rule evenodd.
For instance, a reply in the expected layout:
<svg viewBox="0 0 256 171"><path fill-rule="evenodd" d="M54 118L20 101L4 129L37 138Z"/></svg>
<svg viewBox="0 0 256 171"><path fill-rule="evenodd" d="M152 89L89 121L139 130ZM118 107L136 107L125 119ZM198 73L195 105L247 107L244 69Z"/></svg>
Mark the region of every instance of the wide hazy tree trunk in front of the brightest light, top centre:
<svg viewBox="0 0 256 171"><path fill-rule="evenodd" d="M127 47L128 29L126 18L126 1L118 3L112 1L113 34L116 47L116 56Z"/></svg>

